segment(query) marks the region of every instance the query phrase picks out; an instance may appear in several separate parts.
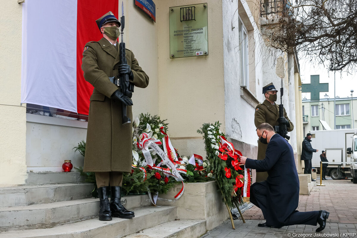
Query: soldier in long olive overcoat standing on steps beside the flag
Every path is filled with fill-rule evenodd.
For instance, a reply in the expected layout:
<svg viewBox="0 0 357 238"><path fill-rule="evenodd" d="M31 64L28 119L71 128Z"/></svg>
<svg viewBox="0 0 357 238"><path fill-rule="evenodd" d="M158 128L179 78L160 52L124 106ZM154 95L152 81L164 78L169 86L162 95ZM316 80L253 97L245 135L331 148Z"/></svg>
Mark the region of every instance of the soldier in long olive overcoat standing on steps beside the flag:
<svg viewBox="0 0 357 238"><path fill-rule="evenodd" d="M132 164L132 124L122 125L122 104L127 106L127 117L132 120L133 103L109 77L127 74L129 80L141 88L147 87L149 77L130 50L125 50L127 64L118 65L120 22L114 14L110 11L96 23L103 38L88 42L82 59L84 78L94 86L83 170L95 172L100 199L99 220L110 221L112 217L132 218L134 212L120 203L122 173L130 172Z"/></svg>

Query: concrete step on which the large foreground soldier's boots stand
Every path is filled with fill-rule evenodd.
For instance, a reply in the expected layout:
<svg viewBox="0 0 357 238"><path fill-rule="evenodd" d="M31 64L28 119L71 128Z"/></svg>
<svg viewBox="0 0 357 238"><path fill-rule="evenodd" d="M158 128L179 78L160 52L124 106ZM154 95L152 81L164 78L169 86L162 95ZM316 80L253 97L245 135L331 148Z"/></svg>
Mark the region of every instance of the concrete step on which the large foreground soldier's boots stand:
<svg viewBox="0 0 357 238"><path fill-rule="evenodd" d="M98 218L94 218L47 229L37 228L0 232L0 238L84 238L100 233L106 234L106 237L117 237L119 232L126 236L140 231L142 228L146 229L157 226L160 223L172 221L177 217L177 208L169 206L144 207L134 211L135 217L132 219L113 218L112 221L99 221ZM150 219L155 214L162 219ZM136 226L137 229L131 226ZM131 228L131 230L128 228ZM123 233L123 231L126 233ZM113 233L112 236L110 236L110 233Z"/></svg>

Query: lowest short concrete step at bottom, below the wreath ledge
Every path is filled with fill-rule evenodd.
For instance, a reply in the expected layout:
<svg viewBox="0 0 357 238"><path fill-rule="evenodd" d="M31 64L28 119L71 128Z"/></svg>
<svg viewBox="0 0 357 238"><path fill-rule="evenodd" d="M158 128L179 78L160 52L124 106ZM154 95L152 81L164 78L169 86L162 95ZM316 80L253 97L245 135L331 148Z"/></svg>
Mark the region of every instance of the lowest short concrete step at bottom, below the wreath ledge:
<svg viewBox="0 0 357 238"><path fill-rule="evenodd" d="M198 238L206 233L206 220L175 219L155 227L125 236L124 238Z"/></svg>

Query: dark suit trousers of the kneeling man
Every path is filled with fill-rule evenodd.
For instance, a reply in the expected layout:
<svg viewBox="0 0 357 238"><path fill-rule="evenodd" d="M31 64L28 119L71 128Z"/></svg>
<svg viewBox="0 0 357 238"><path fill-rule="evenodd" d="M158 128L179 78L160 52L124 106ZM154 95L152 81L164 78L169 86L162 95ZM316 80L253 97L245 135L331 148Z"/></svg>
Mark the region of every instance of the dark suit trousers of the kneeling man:
<svg viewBox="0 0 357 238"><path fill-rule="evenodd" d="M253 203L255 206L259 207L262 212L264 218L266 217L265 214L268 214L267 211L267 182L259 182L253 183L250 187L250 202ZM282 208L284 209L284 208ZM312 212L293 212L285 221L283 226L291 226L291 225L317 225L317 218L320 211L312 211ZM271 226L270 224L273 221L267 221L267 225Z"/></svg>

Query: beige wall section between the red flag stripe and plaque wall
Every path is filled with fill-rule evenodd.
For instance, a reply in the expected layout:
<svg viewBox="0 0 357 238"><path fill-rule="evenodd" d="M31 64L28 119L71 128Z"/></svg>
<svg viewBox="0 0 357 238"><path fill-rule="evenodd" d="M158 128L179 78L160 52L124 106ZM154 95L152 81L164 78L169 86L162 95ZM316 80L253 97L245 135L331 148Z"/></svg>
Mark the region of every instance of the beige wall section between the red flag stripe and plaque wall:
<svg viewBox="0 0 357 238"><path fill-rule="evenodd" d="M119 4L121 14L121 4ZM127 7L126 7L127 6ZM157 7L159 4L157 4ZM133 116L139 113L149 112L151 115L159 113L158 92L158 61L157 61L157 35L158 23L155 23L141 9L135 6L134 1L124 2L125 14L125 46L130 49L139 65L149 76L149 86L146 88L135 88L132 100ZM156 16L156 22L163 21Z"/></svg>

